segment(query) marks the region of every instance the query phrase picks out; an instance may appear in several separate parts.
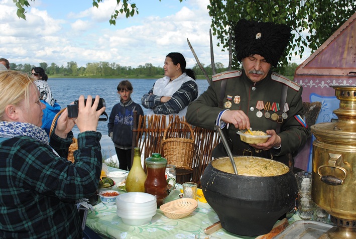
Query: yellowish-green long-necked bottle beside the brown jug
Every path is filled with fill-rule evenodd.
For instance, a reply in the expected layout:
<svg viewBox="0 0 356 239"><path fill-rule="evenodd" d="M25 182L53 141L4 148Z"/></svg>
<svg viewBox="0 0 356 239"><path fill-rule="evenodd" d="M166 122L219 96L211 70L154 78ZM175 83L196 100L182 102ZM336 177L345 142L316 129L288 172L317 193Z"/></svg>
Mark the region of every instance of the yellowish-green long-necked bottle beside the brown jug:
<svg viewBox="0 0 356 239"><path fill-rule="evenodd" d="M127 192L145 192L146 173L141 165L140 148L135 148L134 162L126 178Z"/></svg>

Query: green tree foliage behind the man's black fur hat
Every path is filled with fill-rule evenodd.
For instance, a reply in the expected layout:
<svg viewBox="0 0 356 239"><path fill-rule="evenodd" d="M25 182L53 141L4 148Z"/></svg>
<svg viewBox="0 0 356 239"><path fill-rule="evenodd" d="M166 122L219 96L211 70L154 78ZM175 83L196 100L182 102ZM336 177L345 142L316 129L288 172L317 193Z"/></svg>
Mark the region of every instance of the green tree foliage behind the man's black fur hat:
<svg viewBox="0 0 356 239"><path fill-rule="evenodd" d="M315 51L325 42L356 9L354 0L210 0L207 7L211 17L212 33L228 49L228 38L234 23L240 19L288 24L295 35L287 47L284 59L299 55L309 47ZM234 67L239 63L234 60Z"/></svg>

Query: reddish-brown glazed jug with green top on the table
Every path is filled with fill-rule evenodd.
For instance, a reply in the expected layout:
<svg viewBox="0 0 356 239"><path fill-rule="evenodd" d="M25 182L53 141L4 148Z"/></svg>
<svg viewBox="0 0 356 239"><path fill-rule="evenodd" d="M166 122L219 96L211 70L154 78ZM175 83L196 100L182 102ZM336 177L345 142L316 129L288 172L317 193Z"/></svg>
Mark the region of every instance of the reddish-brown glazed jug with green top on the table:
<svg viewBox="0 0 356 239"><path fill-rule="evenodd" d="M153 153L151 157L145 159L147 178L145 181L145 192L154 195L157 198L157 207L164 203L164 199L174 185L176 180L172 177L166 179L167 160L161 157L161 154ZM173 186L168 189L168 182L173 180Z"/></svg>

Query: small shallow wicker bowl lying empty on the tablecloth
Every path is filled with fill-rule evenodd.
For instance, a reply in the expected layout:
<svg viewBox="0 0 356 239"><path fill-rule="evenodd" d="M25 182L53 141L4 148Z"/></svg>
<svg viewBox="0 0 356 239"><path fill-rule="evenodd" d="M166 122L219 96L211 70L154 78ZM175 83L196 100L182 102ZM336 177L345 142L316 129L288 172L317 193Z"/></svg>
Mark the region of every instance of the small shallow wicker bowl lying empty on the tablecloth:
<svg viewBox="0 0 356 239"><path fill-rule="evenodd" d="M198 206L198 202L192 198L181 198L167 202L160 206L161 211L170 219L179 219L188 216Z"/></svg>

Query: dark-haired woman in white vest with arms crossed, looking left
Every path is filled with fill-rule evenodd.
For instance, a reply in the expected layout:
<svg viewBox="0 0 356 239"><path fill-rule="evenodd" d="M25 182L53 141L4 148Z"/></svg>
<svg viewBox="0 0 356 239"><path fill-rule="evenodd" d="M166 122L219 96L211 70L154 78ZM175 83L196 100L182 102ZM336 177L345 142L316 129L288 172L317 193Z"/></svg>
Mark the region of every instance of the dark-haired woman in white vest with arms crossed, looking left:
<svg viewBox="0 0 356 239"><path fill-rule="evenodd" d="M188 104L198 97L195 72L186 69L184 56L171 52L164 62L164 77L158 79L152 89L142 96L141 104L151 114L185 116Z"/></svg>

